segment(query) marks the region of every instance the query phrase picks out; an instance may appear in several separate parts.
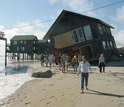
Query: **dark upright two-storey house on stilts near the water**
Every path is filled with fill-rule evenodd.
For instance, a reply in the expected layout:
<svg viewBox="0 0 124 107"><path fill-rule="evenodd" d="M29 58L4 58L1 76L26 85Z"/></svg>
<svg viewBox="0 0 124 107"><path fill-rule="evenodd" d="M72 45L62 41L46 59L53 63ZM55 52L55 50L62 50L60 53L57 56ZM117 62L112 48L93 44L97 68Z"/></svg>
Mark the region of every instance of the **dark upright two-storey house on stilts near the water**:
<svg viewBox="0 0 124 107"><path fill-rule="evenodd" d="M34 35L16 35L10 41L11 53L33 55L38 51L38 39Z"/></svg>

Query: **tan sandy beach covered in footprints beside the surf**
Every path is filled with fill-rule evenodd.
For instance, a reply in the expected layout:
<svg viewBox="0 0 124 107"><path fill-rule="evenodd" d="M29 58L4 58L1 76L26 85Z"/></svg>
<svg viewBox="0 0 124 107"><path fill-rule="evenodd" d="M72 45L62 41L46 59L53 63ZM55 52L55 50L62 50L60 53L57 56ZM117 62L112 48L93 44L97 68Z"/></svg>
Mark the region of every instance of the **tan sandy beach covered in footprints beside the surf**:
<svg viewBox="0 0 124 107"><path fill-rule="evenodd" d="M35 64L34 71L49 68ZM100 74L92 67L89 89L80 94L80 76L69 68L61 73L58 67L51 69L52 78L39 78L26 82L14 94L0 103L1 107L124 107L124 67L106 67Z"/></svg>

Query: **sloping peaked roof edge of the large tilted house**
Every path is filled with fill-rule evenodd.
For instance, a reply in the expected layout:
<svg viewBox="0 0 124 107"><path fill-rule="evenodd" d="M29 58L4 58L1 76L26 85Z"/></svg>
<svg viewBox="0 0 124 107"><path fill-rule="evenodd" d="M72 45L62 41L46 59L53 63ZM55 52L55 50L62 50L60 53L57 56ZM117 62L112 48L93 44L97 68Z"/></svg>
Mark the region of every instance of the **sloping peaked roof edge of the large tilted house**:
<svg viewBox="0 0 124 107"><path fill-rule="evenodd" d="M114 29L113 26L111 26L111 25L105 23L104 21L102 21L102 20L100 20L100 19L93 18L93 17L89 17L89 16L82 15L82 14L79 14L79 13L74 13L74 12L67 11L67 10L63 10L63 11L61 12L61 14L58 16L58 18L56 19L56 21L53 23L53 25L51 26L51 28L49 29L49 31L46 33L46 35L44 36L43 39L49 39L50 33L54 30L54 28L55 28L56 25L59 23L59 21L60 21L62 18L64 18L64 15L65 15L66 13L70 13L70 14L72 14L72 15L77 15L77 16L82 16L82 17L90 18L90 19L92 19L92 20L94 20L94 21L96 21L96 22L99 22L99 23L101 23L101 24L103 24L103 25L108 26L109 28L113 28L113 29Z"/></svg>

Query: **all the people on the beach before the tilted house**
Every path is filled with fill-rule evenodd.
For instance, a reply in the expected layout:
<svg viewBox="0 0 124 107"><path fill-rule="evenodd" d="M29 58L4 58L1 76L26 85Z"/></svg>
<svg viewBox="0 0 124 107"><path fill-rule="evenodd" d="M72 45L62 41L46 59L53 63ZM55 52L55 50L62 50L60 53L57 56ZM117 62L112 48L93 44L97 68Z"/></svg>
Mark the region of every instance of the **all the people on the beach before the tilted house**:
<svg viewBox="0 0 124 107"><path fill-rule="evenodd" d="M92 73L92 70L90 63L86 59L86 56L82 57L79 54L78 57L74 55L74 57L70 59L70 57L64 53L63 55L59 54L57 59L53 54L49 54L46 56L41 55L40 59L41 59L41 66L44 66L45 63L46 67L48 67L49 64L50 69L52 66L55 66L57 60L57 63L59 65L59 70L62 70L63 73L65 73L65 71L68 72L69 65L72 65L73 71L77 72L77 75L79 75L79 73L81 74L81 90L82 90L81 93L83 93L84 90L84 81L85 81L86 89L88 90L88 78L89 78L88 71ZM100 73L102 73L102 69L103 72L105 72L105 65L106 63L105 63L104 55L101 54L98 64L100 68ZM79 70L77 70L77 68L79 68Z"/></svg>

